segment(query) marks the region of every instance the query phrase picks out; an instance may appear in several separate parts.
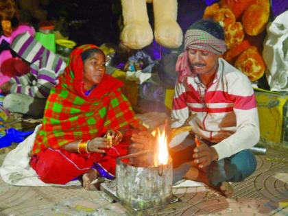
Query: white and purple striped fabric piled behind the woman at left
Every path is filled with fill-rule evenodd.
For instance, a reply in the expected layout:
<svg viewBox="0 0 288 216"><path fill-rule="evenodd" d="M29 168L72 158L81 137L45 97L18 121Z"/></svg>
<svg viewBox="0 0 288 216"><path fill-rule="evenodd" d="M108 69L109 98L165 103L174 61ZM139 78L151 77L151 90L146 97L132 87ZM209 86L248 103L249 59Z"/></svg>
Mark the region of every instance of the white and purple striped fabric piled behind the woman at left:
<svg viewBox="0 0 288 216"><path fill-rule="evenodd" d="M50 89L58 83L58 77L64 71L66 63L56 53L43 47L28 32L17 36L11 49L31 63L31 71L10 80L10 93L22 93L38 98L48 97Z"/></svg>

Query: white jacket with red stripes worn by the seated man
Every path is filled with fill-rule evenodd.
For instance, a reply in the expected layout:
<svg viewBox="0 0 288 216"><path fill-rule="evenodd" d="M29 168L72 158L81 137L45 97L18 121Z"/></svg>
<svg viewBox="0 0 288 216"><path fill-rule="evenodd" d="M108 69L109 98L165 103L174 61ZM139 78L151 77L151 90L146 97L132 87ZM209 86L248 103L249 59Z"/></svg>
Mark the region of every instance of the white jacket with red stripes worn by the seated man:
<svg viewBox="0 0 288 216"><path fill-rule="evenodd" d="M192 115L195 117L191 118ZM197 76L186 77L176 84L171 117L172 128L189 124L193 133L217 143L213 147L218 160L259 141L259 119L252 85L248 77L222 58L219 58L218 71L208 88Z"/></svg>

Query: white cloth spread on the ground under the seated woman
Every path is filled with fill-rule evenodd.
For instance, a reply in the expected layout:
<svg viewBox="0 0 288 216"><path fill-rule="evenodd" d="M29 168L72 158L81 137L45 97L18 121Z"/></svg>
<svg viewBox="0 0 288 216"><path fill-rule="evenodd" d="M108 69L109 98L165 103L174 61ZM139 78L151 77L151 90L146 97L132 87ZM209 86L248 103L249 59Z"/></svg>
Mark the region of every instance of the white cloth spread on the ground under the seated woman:
<svg viewBox="0 0 288 216"><path fill-rule="evenodd" d="M80 184L80 181L75 180L68 182L67 184L46 184L42 182L34 169L30 167L29 161L31 158L30 152L34 145L36 134L38 133L41 125L35 128L33 134L27 137L25 141L19 143L19 145L7 154L2 166L0 167L0 176L3 181L8 184L17 186L71 186Z"/></svg>

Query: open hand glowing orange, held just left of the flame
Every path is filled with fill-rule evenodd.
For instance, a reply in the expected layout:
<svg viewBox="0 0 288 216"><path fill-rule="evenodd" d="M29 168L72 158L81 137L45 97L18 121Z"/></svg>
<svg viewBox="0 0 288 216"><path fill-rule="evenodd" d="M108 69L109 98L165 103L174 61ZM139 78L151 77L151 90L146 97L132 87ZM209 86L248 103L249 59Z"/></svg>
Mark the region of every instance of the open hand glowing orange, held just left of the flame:
<svg viewBox="0 0 288 216"><path fill-rule="evenodd" d="M154 149L156 143L156 138L147 131L132 134L131 140L133 141L131 148L136 149L137 151Z"/></svg>

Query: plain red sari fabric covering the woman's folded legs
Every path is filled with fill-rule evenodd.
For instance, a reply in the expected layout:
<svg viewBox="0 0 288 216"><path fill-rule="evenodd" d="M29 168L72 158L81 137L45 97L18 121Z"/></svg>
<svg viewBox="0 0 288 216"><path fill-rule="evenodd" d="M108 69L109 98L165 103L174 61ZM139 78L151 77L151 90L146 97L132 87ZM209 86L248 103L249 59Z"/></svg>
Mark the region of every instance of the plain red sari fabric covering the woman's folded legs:
<svg viewBox="0 0 288 216"><path fill-rule="evenodd" d="M86 173L93 167L93 163L105 167L110 175L115 176L116 158L128 154L128 145L119 143L108 149L106 154L77 154L64 149L48 148L32 156L30 165L38 178L49 184L66 184Z"/></svg>

